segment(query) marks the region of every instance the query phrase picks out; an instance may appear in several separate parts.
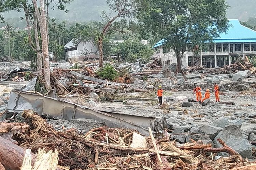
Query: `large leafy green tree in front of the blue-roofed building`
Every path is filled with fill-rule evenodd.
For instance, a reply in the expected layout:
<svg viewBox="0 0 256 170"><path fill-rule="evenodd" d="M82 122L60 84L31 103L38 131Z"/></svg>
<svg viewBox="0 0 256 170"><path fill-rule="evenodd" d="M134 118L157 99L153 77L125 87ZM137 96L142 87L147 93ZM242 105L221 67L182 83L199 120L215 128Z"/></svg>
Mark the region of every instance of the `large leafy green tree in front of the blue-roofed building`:
<svg viewBox="0 0 256 170"><path fill-rule="evenodd" d="M226 32L226 0L143 0L138 19L148 32L165 38L177 58L177 72L182 72L182 59L188 44L212 42Z"/></svg>

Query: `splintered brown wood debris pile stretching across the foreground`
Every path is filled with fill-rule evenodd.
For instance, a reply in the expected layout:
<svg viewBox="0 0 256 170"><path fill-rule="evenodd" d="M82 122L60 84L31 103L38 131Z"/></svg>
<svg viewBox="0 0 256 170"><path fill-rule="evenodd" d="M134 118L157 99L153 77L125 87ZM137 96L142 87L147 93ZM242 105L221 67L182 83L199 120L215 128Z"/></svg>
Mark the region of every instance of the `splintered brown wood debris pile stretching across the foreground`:
<svg viewBox="0 0 256 170"><path fill-rule="evenodd" d="M151 128L148 128L149 137L145 137L136 130L108 127L92 129L85 135L81 135L82 133L76 132L75 129L55 131L32 110L24 111L22 116L30 124L30 129L22 133L15 132L13 139L20 147L31 149L32 153L37 153L40 149L44 149L44 153L57 150L59 169L69 167L91 170L228 170L238 167L243 169L243 166L256 168L255 164L242 159L221 139L218 141L223 147L212 148L211 144L204 145L202 141L193 140L192 143L176 145L175 141L169 141L168 135L154 138ZM10 146L10 141L1 142L1 140L0 137L0 146L2 145L0 162L10 167L12 159L5 159L8 156L5 154L9 153L3 152L7 150L4 149L5 147ZM9 144L5 145L5 143ZM12 146L11 149L18 148ZM22 152L25 151L14 153ZM227 152L231 156L216 159L215 153L218 152ZM210 156L205 153L210 153ZM56 156L55 160L57 160ZM18 165L15 164L15 166Z"/></svg>

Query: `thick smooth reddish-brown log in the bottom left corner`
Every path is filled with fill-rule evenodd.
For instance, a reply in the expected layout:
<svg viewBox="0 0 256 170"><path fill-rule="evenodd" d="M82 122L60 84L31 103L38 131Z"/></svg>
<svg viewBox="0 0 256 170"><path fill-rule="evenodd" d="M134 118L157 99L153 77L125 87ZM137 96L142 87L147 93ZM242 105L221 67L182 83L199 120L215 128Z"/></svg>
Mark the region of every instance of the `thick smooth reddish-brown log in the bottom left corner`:
<svg viewBox="0 0 256 170"><path fill-rule="evenodd" d="M0 136L0 162L5 169L20 169L20 167L22 167L25 153L25 149L15 145L11 141L6 140ZM36 155L31 153L31 156L31 165L34 165ZM61 169L57 168L57 170Z"/></svg>

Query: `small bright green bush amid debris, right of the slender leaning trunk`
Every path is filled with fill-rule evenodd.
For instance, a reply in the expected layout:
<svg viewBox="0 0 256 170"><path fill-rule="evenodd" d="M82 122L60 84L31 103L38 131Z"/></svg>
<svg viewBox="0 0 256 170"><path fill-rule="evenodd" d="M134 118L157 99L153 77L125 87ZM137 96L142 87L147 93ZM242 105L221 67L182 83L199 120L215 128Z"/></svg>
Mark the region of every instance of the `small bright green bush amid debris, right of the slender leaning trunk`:
<svg viewBox="0 0 256 170"><path fill-rule="evenodd" d="M106 63L104 64L103 68L99 68L97 70L97 74L100 78L106 80L116 80L118 78L118 72L115 70L115 68L110 64Z"/></svg>

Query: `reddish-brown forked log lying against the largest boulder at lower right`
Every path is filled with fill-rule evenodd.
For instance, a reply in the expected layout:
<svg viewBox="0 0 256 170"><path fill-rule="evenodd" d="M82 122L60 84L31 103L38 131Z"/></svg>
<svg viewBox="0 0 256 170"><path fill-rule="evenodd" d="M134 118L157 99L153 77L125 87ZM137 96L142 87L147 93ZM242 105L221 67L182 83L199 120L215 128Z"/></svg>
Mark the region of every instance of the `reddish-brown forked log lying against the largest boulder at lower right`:
<svg viewBox="0 0 256 170"><path fill-rule="evenodd" d="M239 153L235 150L233 150L232 148L230 148L229 146L227 146L227 144L221 140L221 139L217 139L219 143L221 143L221 145L223 147L221 148L205 148L204 150L207 151L207 152L213 152L213 153L219 153L219 152L226 152L226 153L229 153L230 155L237 155L239 160L242 162L243 161L243 158L241 155L239 155ZM236 140L236 139L234 139Z"/></svg>

